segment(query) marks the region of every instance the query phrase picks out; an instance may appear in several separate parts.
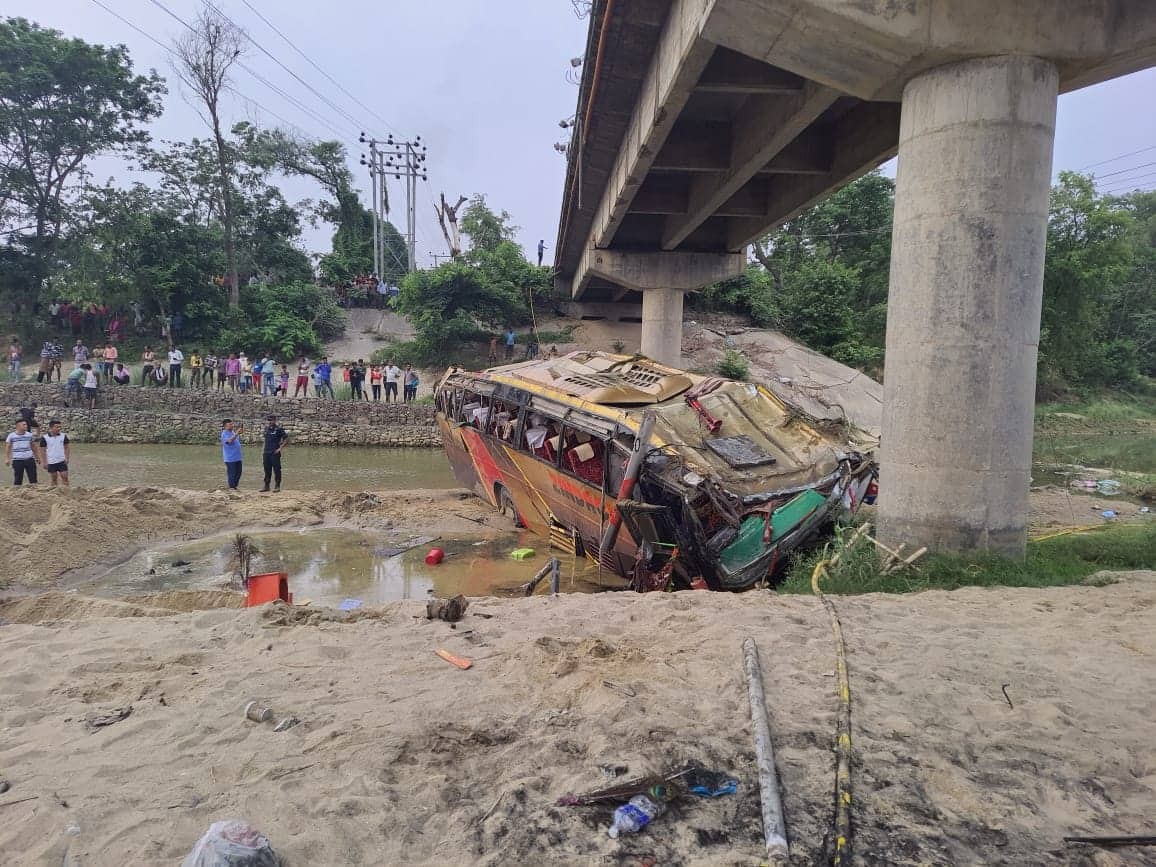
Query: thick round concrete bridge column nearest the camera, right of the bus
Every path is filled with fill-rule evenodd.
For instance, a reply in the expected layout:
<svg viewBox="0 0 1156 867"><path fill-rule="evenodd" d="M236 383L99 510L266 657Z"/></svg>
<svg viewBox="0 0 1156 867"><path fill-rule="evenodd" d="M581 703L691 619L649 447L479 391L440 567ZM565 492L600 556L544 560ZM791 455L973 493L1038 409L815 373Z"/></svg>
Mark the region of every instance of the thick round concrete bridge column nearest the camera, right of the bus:
<svg viewBox="0 0 1156 867"><path fill-rule="evenodd" d="M903 91L879 532L1023 556L1058 74L966 60Z"/></svg>

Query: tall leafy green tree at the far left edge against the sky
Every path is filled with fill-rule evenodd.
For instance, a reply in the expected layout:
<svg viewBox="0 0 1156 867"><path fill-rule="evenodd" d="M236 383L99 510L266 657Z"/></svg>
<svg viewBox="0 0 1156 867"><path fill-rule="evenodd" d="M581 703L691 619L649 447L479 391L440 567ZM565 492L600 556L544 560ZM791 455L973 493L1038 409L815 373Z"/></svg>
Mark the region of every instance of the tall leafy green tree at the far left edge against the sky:
<svg viewBox="0 0 1156 867"><path fill-rule="evenodd" d="M164 92L123 45L0 21L0 232L5 282L23 297L49 273L88 161L146 141Z"/></svg>

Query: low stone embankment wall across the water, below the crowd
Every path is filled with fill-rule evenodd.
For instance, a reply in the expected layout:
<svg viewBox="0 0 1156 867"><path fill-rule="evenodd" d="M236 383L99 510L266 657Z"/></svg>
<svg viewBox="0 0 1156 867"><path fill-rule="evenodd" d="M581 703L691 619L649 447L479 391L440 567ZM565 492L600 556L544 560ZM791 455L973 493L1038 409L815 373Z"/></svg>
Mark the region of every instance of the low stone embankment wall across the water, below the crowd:
<svg viewBox="0 0 1156 867"><path fill-rule="evenodd" d="M37 405L36 417L60 418L69 435L89 443L215 443L222 418L245 423L244 442L257 442L265 416L274 414L303 445L442 445L433 407L366 403L317 398L261 398L194 388L111 386L96 409L65 406L62 384L0 384L0 407L9 418ZM10 424L10 421L5 422Z"/></svg>

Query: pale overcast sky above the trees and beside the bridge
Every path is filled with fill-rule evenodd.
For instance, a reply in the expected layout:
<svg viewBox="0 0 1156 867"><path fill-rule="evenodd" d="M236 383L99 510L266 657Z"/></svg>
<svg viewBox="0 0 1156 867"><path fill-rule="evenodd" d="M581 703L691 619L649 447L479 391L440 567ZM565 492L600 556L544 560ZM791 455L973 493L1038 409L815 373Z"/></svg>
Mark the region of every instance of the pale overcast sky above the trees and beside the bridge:
<svg viewBox="0 0 1156 867"><path fill-rule="evenodd" d="M156 2L192 20L200 0L102 0L124 18L162 43L181 31ZM558 120L575 111L578 88L566 81L571 57L585 46L586 22L570 0L214 0L250 36L301 79L353 116L342 117L295 81L257 47L245 62L310 106L318 117L238 72L236 88L246 98L230 105L232 120L284 126L280 116L318 138L339 138L357 165L362 128L421 135L429 147L429 181L417 197L417 259L445 253L432 200L484 193L495 209L506 209L521 228L527 253L539 238L554 244L565 172L554 150L565 133ZM260 12L309 58L386 126L358 106L254 14ZM138 69L155 68L169 81L164 116L151 127L155 139L205 135L205 126L183 101L169 54L147 37L102 9L95 0L5 0L3 14L22 15L88 42L128 46ZM1095 166L1105 190L1156 187L1156 71L1060 97L1054 169L1087 169L1129 151L1142 153ZM320 119L318 119L320 118ZM324 121L324 123L323 123ZM1151 165L1146 165L1146 164ZM98 179L118 172L102 163ZM1112 172L1110 175L1110 172ZM127 176L119 171L121 180ZM392 218L405 228L403 181L390 181ZM281 184L290 201L319 191L301 179ZM364 197L368 202L369 195ZM311 251L328 250L328 227L306 230ZM553 250L547 252L549 261Z"/></svg>

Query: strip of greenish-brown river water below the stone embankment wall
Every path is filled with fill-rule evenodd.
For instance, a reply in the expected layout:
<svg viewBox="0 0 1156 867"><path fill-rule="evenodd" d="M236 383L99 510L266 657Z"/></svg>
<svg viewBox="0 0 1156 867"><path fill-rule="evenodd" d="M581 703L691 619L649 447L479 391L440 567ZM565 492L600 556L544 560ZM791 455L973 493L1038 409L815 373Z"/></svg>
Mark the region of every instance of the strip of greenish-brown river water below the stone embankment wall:
<svg viewBox="0 0 1156 867"><path fill-rule="evenodd" d="M224 486L215 445L73 446L72 483L88 488L148 484L207 490ZM373 449L289 445L282 458L284 487L295 490L406 490L457 488L440 449ZM245 449L243 489L261 487L259 447Z"/></svg>

